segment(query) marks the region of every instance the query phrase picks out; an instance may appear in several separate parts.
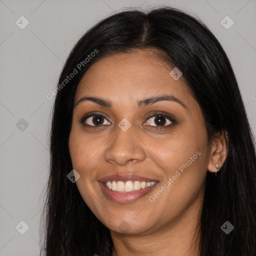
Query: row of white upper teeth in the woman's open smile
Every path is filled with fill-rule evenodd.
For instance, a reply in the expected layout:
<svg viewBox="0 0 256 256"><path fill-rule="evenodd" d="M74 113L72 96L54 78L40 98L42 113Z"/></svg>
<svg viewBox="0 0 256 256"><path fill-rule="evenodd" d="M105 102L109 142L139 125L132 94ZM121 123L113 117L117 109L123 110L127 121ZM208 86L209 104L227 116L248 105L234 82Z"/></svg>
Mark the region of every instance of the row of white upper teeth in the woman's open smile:
<svg viewBox="0 0 256 256"><path fill-rule="evenodd" d="M156 181L152 182L146 182L146 181L139 181L135 180L134 182L131 180L128 180L126 182L123 181L107 181L106 187L109 189L112 189L113 191L119 191L119 192L131 192L134 190L138 190L141 188L145 188L148 186L152 186L156 183Z"/></svg>

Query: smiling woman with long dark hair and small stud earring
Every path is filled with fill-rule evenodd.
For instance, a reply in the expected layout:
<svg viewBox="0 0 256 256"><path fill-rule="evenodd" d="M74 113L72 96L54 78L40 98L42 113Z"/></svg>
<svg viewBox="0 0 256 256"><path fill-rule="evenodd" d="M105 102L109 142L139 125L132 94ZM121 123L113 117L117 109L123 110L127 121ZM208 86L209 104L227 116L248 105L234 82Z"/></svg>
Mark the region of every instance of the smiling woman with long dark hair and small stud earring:
<svg viewBox="0 0 256 256"><path fill-rule="evenodd" d="M170 7L113 14L58 84L45 255L253 255L253 136L201 21Z"/></svg>

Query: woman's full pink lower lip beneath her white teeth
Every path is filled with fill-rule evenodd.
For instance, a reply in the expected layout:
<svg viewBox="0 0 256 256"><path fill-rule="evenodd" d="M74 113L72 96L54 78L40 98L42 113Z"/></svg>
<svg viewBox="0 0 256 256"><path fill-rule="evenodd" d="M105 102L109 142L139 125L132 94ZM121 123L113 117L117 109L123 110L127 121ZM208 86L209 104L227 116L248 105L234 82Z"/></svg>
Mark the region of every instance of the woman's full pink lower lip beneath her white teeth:
<svg viewBox="0 0 256 256"><path fill-rule="evenodd" d="M145 196L147 193L149 193L156 185L158 182L155 184L145 187L145 188L140 188L138 190L134 190L131 192L118 192L118 191L113 191L112 189L107 188L104 183L99 182L99 185L106 197L111 199L112 201L119 202L119 203L129 203L136 201L140 199L141 197Z"/></svg>

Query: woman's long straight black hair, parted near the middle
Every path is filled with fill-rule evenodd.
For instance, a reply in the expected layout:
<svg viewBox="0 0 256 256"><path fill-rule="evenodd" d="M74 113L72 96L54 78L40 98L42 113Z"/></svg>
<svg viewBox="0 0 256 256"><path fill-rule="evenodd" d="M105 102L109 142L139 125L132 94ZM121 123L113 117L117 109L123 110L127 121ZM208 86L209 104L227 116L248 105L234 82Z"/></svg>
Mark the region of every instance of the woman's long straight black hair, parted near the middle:
<svg viewBox="0 0 256 256"><path fill-rule="evenodd" d="M59 77L52 112L41 253L111 254L109 229L94 216L76 184L67 178L72 170L68 137L74 95L82 75L95 61L109 54L146 48L160 50L159 58L182 71L203 113L208 139L221 130L228 136L223 166L217 176L209 171L206 174L200 255L252 255L256 251L256 156L232 67L217 39L199 19L165 6L108 16L84 33L70 52ZM74 77L65 80L72 72L76 73ZM234 226L229 234L220 228L225 221Z"/></svg>

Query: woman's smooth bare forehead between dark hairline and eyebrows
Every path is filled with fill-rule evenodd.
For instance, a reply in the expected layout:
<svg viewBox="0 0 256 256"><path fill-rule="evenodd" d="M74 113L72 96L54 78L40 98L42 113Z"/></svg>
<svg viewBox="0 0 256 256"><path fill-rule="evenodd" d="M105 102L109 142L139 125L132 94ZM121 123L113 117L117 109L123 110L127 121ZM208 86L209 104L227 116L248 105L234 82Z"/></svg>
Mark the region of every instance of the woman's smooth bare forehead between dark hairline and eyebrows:
<svg viewBox="0 0 256 256"><path fill-rule="evenodd" d="M92 64L79 82L75 102L84 95L101 96L113 101L139 100L157 94L171 94L189 104L191 95L182 76L174 80L157 50L117 53Z"/></svg>

